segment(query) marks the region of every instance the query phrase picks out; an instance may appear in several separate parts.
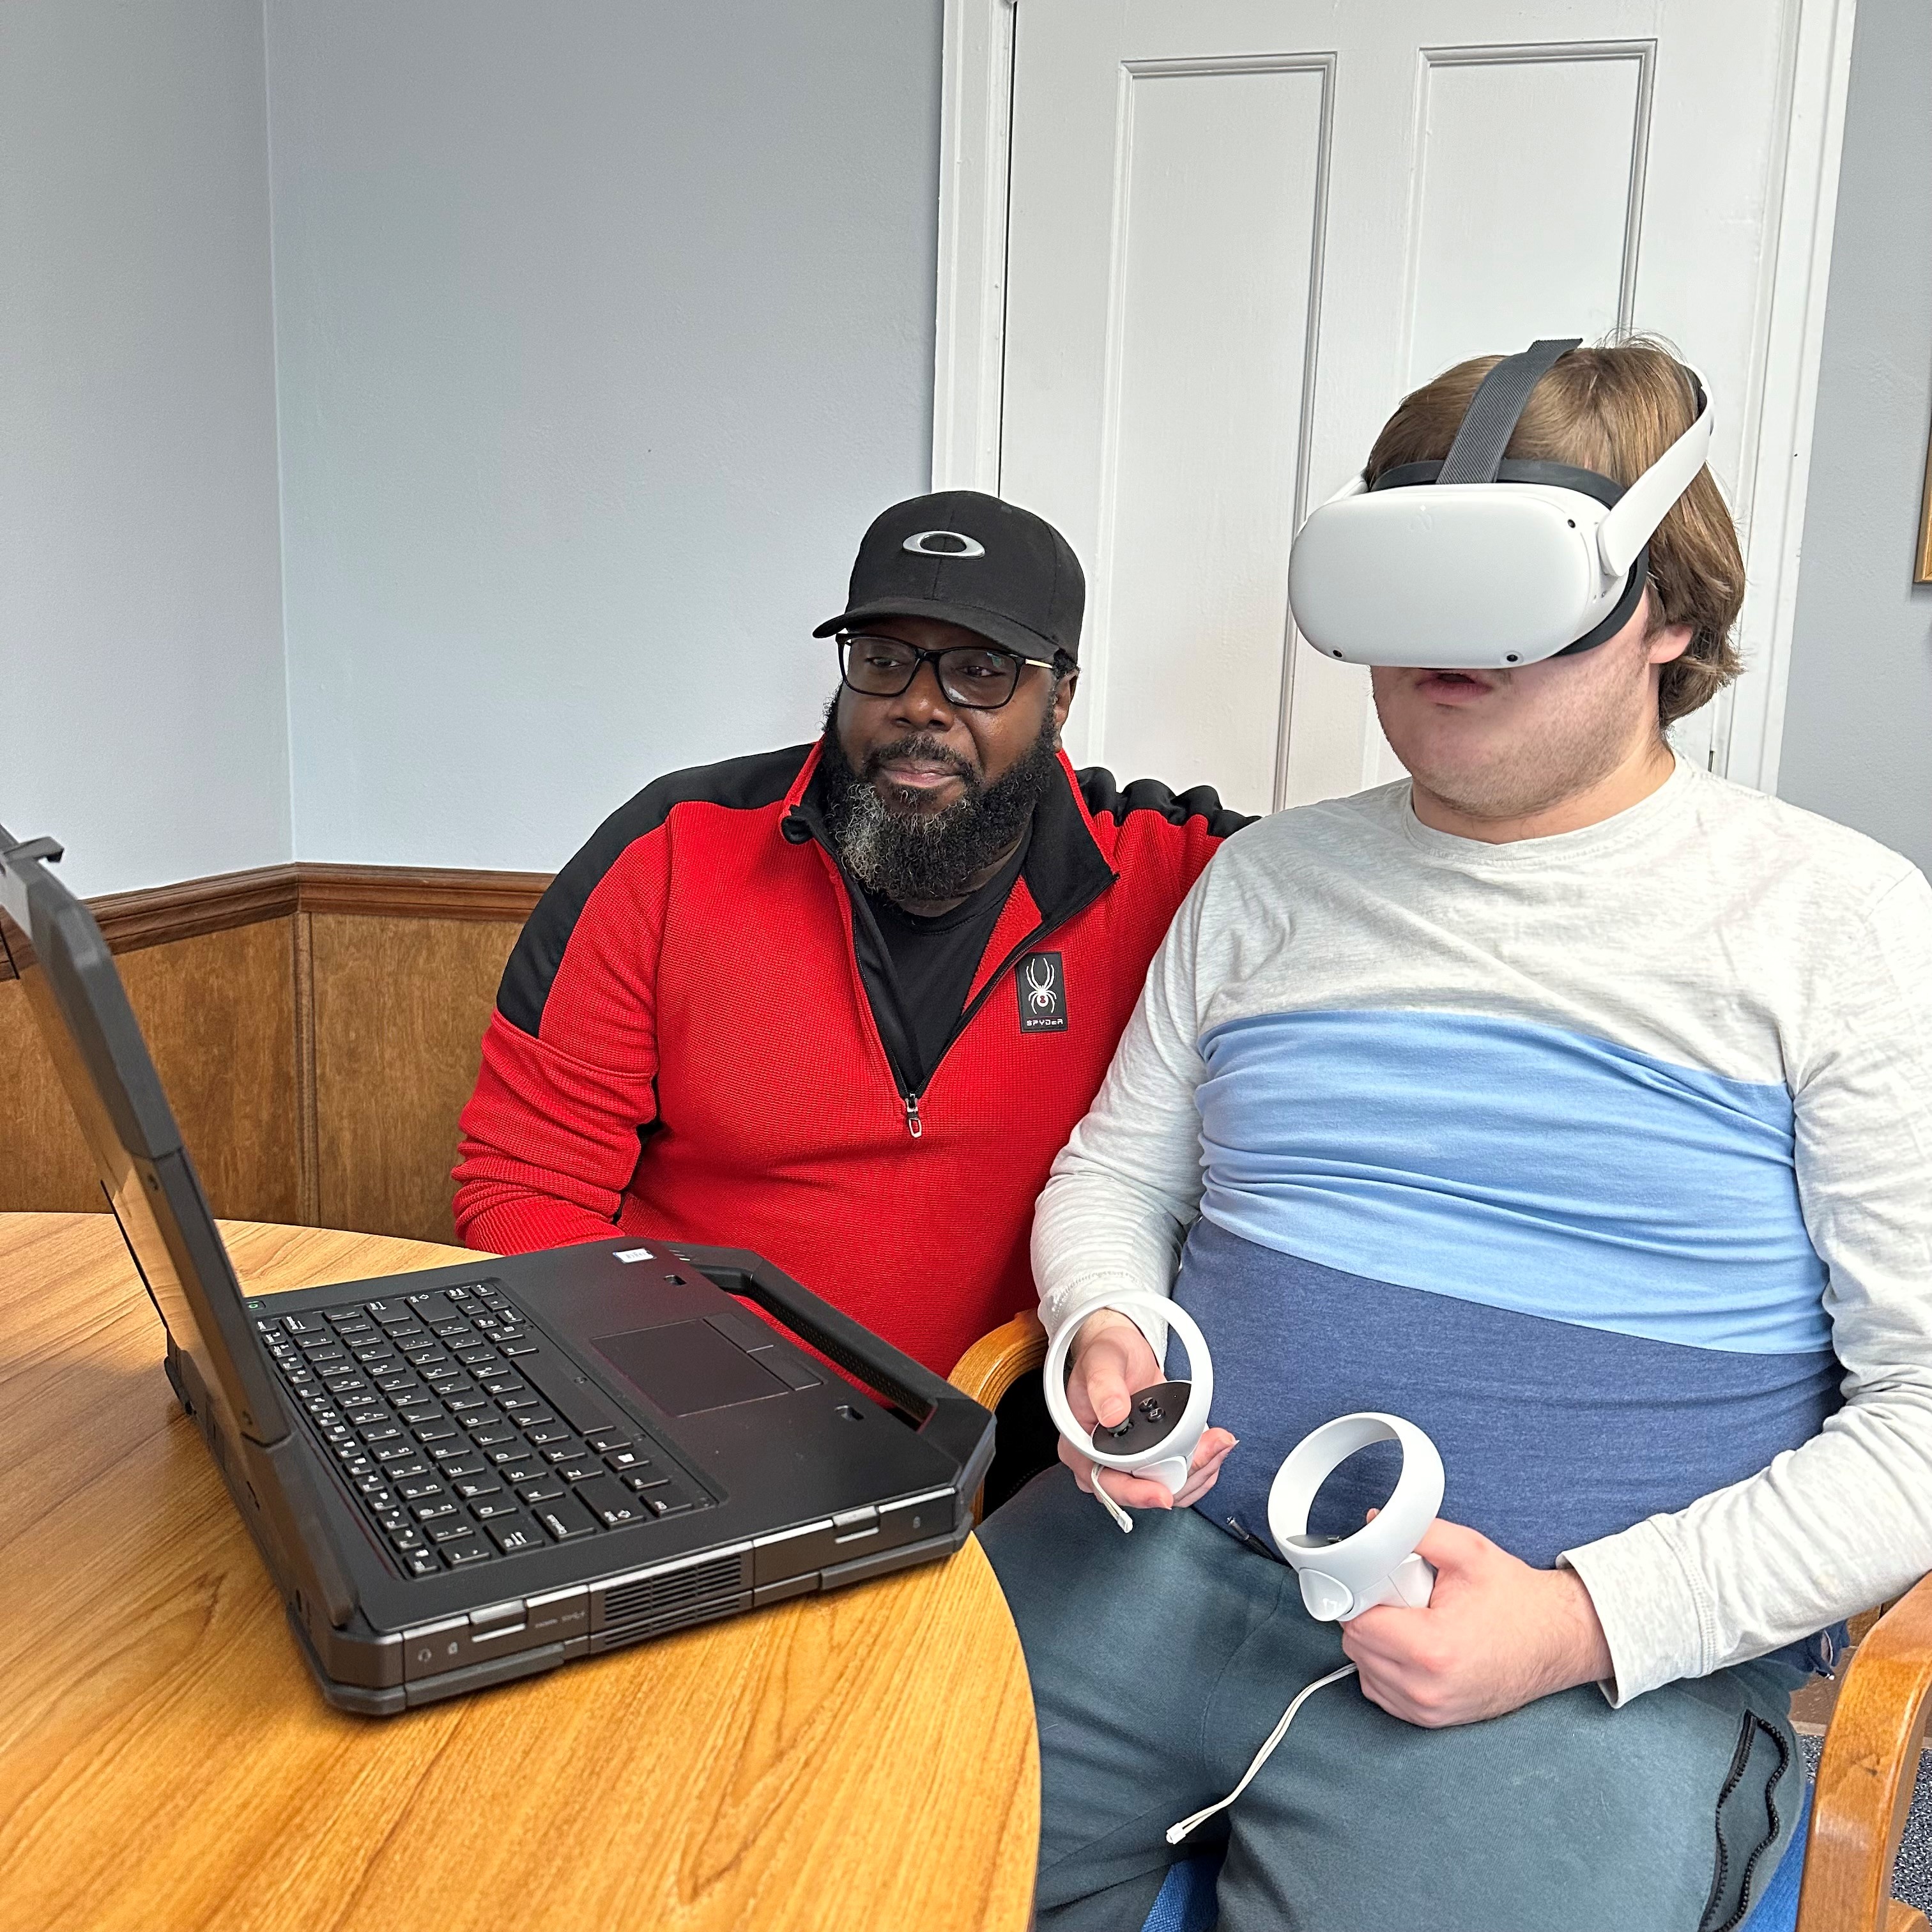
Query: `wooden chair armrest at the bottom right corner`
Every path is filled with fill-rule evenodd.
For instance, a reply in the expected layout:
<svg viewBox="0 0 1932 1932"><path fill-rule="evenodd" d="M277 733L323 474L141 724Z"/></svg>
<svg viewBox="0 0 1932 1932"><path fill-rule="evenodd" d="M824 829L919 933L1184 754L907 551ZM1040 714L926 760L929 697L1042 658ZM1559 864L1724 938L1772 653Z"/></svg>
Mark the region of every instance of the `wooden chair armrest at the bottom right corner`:
<svg viewBox="0 0 1932 1932"><path fill-rule="evenodd" d="M1905 1812L1932 1700L1932 1577L1866 1633L1837 1692L1818 1789L1799 1932L1911 1932L1920 1913L1891 1897Z"/></svg>

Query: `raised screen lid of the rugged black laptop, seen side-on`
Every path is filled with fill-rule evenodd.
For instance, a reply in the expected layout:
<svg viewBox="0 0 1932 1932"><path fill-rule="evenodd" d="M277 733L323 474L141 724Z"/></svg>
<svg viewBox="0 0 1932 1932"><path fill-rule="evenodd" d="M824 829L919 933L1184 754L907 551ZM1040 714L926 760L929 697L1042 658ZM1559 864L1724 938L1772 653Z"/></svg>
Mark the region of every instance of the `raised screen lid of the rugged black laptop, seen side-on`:
<svg viewBox="0 0 1932 1932"><path fill-rule="evenodd" d="M178 1354L226 1434L288 1434L242 1287L93 914L48 871L50 840L0 827L0 972L19 978L102 1192Z"/></svg>

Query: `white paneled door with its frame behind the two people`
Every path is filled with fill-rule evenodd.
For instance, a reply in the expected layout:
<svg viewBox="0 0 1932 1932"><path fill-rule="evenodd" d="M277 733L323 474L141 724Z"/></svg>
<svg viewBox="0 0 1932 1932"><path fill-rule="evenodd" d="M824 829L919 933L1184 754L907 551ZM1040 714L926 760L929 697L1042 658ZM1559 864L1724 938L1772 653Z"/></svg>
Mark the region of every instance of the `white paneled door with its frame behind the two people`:
<svg viewBox="0 0 1932 1932"><path fill-rule="evenodd" d="M960 255L949 176L978 357L947 340L964 294L941 269L939 415L989 392L997 352L991 429L976 404L997 464L941 481L997 481L1088 564L1076 757L1248 811L1387 775L1366 672L1293 638L1289 541L1403 390L1540 334L1650 328L1706 371L1733 502L1770 479L1752 578L1776 639L1835 182L1835 124L1793 141L1793 104L1830 120L1841 99L1843 6L1018 0L1010 19L1010 147L980 172L1003 261L991 220ZM1009 70L987 71L997 110ZM954 168L962 139L1007 139L997 112L962 137L962 99L949 75ZM1741 707L1754 744L1772 709ZM1723 765L1729 719L1687 744Z"/></svg>

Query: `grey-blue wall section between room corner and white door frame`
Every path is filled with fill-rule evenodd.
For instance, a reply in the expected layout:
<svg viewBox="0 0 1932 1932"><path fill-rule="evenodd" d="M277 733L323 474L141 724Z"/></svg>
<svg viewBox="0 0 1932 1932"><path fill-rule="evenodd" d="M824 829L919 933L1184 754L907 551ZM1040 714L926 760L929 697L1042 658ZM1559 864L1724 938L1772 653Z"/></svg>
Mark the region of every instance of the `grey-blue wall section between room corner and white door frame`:
<svg viewBox="0 0 1932 1932"><path fill-rule="evenodd" d="M941 0L269 0L296 846L553 867L817 730L925 485Z"/></svg>

